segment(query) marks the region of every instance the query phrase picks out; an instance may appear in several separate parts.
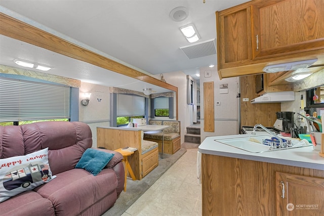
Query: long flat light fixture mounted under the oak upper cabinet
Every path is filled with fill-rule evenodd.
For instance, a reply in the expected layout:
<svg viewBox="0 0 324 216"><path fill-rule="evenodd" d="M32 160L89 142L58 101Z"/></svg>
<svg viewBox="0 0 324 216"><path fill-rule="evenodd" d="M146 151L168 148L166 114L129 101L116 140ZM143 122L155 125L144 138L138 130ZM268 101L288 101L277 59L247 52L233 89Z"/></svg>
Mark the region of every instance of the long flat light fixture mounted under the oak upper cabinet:
<svg viewBox="0 0 324 216"><path fill-rule="evenodd" d="M308 68L309 66L314 64L316 61L317 61L317 59L309 59L309 60L305 60L305 61L268 65L263 68L263 71L266 73L276 73L276 72L280 72L280 71L304 69L304 68Z"/></svg>

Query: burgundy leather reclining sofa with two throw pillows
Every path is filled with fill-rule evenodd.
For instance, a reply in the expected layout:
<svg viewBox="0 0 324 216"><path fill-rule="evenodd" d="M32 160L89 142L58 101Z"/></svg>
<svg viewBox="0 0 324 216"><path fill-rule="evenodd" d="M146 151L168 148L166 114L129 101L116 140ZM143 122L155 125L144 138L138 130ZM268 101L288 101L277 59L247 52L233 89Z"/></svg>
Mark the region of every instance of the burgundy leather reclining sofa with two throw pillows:
<svg viewBox="0 0 324 216"><path fill-rule="evenodd" d="M0 203L0 215L101 215L115 203L124 188L120 153L94 176L75 168L92 147L90 127L82 122L46 121L20 126L0 126L0 159L49 148L53 176L50 182Z"/></svg>

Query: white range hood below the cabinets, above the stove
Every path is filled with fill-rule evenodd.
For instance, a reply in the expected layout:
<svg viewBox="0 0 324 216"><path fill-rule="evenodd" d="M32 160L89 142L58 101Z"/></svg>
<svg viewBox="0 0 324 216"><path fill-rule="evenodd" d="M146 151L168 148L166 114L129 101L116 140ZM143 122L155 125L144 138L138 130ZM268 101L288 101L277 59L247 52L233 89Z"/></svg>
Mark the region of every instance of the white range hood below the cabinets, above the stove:
<svg viewBox="0 0 324 216"><path fill-rule="evenodd" d="M251 104L256 103L278 103L282 101L294 101L295 92L286 91L286 92L268 92L264 93L258 98L251 100Z"/></svg>

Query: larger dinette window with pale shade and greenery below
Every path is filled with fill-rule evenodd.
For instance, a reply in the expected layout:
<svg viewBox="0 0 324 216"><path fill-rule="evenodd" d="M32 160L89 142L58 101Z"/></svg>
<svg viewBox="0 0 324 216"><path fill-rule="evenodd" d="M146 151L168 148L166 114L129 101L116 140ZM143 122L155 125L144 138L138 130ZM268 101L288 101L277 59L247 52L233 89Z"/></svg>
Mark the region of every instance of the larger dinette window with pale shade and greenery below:
<svg viewBox="0 0 324 216"><path fill-rule="evenodd" d="M117 95L117 126L127 125L133 118L145 116L145 98L140 96Z"/></svg>

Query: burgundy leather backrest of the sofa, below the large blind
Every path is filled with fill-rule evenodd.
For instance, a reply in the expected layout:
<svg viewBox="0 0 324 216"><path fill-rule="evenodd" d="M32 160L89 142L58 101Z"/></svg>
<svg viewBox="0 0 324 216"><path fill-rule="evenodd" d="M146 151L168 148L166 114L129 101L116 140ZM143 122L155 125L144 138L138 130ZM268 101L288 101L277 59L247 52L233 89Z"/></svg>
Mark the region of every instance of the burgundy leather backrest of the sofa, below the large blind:
<svg viewBox="0 0 324 216"><path fill-rule="evenodd" d="M86 149L92 146L91 129L83 122L44 121L4 126L2 130L1 158L25 155L48 147L53 175L74 168Z"/></svg>

